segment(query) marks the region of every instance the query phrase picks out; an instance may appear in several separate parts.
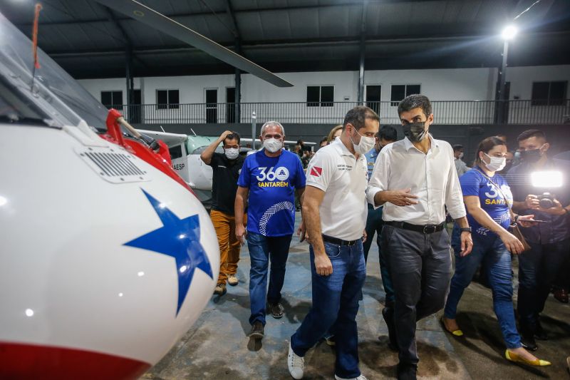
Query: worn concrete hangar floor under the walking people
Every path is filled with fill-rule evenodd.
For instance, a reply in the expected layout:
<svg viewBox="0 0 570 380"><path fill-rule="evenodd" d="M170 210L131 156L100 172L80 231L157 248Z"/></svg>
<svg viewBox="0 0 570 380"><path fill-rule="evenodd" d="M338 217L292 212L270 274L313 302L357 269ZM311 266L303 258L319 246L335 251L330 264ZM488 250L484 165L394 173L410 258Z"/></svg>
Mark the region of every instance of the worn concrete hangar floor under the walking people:
<svg viewBox="0 0 570 380"><path fill-rule="evenodd" d="M297 221L299 222L299 220ZM237 287L222 297L212 297L196 324L180 342L141 379L291 379L286 357L289 337L311 306L309 246L294 236L282 304L282 319L267 317L262 341L247 338L249 317L249 253L242 250ZM398 355L387 346L388 332L381 317L384 292L378 267L378 247L369 255L368 276L358 312L361 371L368 379L395 379ZM465 338L442 331L437 316L418 324L420 379L569 379L566 356L570 354L570 307L549 299L544 327L552 339L539 342L536 352L553 365L527 368L503 359L504 345L492 312L489 289L471 284L460 303L460 323ZM380 339L378 338L380 337ZM333 379L334 351L324 343L306 355L304 379Z"/></svg>

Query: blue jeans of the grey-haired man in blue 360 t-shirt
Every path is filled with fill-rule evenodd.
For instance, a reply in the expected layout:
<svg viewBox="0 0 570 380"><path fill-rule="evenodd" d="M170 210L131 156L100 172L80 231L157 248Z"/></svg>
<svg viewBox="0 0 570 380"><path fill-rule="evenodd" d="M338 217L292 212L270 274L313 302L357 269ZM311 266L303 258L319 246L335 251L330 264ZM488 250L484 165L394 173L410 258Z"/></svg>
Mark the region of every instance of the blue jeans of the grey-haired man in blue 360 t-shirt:
<svg viewBox="0 0 570 380"><path fill-rule="evenodd" d="M260 321L265 325L265 296L274 304L281 299L281 288L285 280L285 265L289 256L291 236L266 237L247 232L247 247L252 267L249 269L249 302L252 315L249 324ZM267 267L271 258L269 289L267 289Z"/></svg>

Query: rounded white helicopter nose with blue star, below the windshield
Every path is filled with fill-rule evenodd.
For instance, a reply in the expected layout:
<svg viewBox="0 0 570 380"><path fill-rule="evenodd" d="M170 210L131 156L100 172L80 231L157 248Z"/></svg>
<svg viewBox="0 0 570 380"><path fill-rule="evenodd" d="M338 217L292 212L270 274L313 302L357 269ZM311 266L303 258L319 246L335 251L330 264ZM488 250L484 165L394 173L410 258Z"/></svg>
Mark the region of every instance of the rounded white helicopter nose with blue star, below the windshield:
<svg viewBox="0 0 570 380"><path fill-rule="evenodd" d="M217 237L199 200L76 127L0 125L0 178L0 378L23 347L90 356L100 378L109 358L156 364L217 282Z"/></svg>

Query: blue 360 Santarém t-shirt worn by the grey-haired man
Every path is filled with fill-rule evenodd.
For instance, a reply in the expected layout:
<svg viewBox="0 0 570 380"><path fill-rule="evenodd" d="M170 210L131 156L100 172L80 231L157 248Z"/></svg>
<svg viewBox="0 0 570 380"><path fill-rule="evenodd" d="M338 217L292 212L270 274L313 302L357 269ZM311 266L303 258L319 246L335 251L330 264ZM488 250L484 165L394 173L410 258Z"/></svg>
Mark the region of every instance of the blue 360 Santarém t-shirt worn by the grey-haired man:
<svg viewBox="0 0 570 380"><path fill-rule="evenodd" d="M299 155L284 149L277 157L268 157L264 149L248 155L237 185L249 188L249 232L264 236L293 235L295 189L305 187Z"/></svg>

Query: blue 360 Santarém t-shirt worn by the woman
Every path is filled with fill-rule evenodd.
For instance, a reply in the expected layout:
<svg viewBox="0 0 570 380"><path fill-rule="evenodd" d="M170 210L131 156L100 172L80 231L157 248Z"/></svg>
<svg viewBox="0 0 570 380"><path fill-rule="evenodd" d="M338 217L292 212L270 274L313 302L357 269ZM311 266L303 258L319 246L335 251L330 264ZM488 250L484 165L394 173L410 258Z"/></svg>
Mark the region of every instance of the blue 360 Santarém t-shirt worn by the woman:
<svg viewBox="0 0 570 380"><path fill-rule="evenodd" d="M463 196L474 195L479 197L481 208L487 212L492 219L501 225L505 230L511 224L511 216L509 213L509 205L512 205L512 192L502 175L495 174L487 179L478 168L473 168L459 178ZM497 189L500 187L500 191ZM507 197L505 200L504 197ZM469 212L467 212L467 220L472 228L473 233L480 236L496 236L494 232L489 231L487 227L480 225Z"/></svg>

